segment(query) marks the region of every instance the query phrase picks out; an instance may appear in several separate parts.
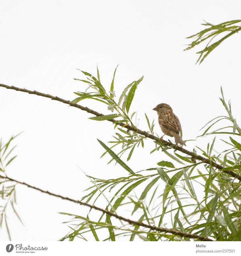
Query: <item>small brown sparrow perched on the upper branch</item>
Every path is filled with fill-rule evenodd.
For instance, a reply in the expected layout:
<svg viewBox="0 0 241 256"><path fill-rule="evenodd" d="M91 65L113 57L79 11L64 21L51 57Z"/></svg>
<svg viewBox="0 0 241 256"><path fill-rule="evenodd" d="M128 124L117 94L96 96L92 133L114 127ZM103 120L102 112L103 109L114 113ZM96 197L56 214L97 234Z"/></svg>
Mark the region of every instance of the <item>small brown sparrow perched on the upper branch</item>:
<svg viewBox="0 0 241 256"><path fill-rule="evenodd" d="M173 113L171 106L166 103L161 103L158 104L153 110L155 110L158 114L158 123L164 135L166 134L170 137L174 137L176 145L177 143L180 143L181 145L186 146L179 135L182 129L180 121ZM161 136L161 140L163 139L164 135Z"/></svg>

